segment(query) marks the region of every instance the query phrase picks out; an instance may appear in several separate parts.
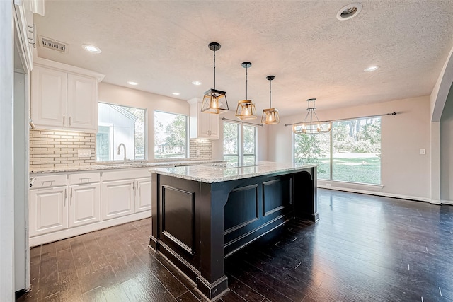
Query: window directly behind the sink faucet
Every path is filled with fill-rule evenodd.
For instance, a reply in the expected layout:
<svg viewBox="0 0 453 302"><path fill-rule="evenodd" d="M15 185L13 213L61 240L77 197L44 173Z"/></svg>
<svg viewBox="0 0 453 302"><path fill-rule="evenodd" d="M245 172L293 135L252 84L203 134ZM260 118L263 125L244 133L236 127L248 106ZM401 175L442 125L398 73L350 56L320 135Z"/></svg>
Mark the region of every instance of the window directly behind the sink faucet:
<svg viewBox="0 0 453 302"><path fill-rule="evenodd" d="M97 161L122 160L124 151L117 153L120 144L125 144L127 159L147 159L146 109L99 102L98 111Z"/></svg>

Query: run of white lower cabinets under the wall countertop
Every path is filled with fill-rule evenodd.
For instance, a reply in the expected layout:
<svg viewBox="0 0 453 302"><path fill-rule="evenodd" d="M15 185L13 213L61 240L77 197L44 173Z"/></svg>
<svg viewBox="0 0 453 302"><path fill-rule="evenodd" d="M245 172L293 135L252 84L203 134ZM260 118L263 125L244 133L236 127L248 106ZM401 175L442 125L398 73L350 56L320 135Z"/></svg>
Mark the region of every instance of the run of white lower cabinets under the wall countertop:
<svg viewBox="0 0 453 302"><path fill-rule="evenodd" d="M33 176L33 175L32 175ZM151 216L149 168L35 176L30 246Z"/></svg>

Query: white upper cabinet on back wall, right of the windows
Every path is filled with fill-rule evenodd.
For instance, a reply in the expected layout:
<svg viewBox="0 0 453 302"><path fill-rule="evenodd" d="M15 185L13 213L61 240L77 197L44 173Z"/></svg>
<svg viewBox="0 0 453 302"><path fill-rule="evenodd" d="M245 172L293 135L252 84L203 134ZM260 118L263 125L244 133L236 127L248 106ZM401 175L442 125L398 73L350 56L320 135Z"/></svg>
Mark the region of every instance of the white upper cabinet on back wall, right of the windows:
<svg viewBox="0 0 453 302"><path fill-rule="evenodd" d="M201 98L188 100L190 104L190 138L219 139L219 115L201 112Z"/></svg>

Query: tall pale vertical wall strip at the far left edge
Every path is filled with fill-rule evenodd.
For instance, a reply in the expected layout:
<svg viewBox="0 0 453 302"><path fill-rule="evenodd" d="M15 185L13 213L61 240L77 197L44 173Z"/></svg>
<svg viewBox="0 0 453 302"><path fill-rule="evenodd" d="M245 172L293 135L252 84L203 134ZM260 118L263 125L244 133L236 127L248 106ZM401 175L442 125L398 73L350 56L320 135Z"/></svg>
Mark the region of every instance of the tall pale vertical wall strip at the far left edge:
<svg viewBox="0 0 453 302"><path fill-rule="evenodd" d="M0 1L0 301L14 301L12 1ZM24 259L25 261L25 259Z"/></svg>

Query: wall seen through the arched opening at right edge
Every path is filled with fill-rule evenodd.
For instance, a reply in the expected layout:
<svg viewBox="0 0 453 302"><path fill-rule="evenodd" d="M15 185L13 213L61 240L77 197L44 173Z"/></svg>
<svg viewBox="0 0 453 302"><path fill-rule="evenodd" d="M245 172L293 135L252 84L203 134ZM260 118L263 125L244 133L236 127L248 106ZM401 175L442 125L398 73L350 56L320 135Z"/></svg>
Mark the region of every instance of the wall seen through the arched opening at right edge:
<svg viewBox="0 0 453 302"><path fill-rule="evenodd" d="M453 85L440 118L440 199L453 204Z"/></svg>

